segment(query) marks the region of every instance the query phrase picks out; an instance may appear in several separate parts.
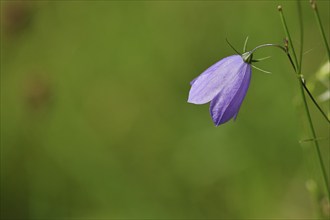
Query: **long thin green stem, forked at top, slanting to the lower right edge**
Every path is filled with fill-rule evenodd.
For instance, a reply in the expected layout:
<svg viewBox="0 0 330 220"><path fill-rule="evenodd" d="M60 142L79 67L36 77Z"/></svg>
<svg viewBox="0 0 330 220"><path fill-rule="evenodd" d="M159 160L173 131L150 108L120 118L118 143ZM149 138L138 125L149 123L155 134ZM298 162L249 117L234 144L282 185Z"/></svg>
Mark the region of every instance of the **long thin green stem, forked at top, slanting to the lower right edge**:
<svg viewBox="0 0 330 220"><path fill-rule="evenodd" d="M293 58L294 58L294 62L296 64L295 66L297 67L297 68L295 68L296 69L296 74L300 78L300 75L301 75L301 60L300 60L300 63L298 63L297 56L296 56L296 53L295 53L295 50L294 50L294 47L293 47L292 39L291 39L291 36L290 36L290 33L289 33L289 29L288 29L288 26L286 24L286 21L285 21L284 15L283 15L282 6L278 6L278 10L280 12L280 17L281 17L281 20L282 20L282 24L283 24L285 34L286 34L286 36L289 40L289 44L290 44L289 46L291 48L292 55L293 55ZM299 10L299 16L301 16L300 5L298 5L298 10ZM299 19L300 19L300 32L301 32L300 34L303 35L303 32L302 32L302 18L299 18ZM300 39L303 39L303 37L301 37ZM301 49L302 49L303 42L300 42L300 43L301 43ZM302 50L300 51L300 53L302 53ZM300 55L300 57L301 56L302 55ZM308 119L308 124L309 124L310 130L311 130L311 133L312 133L312 139L313 139L313 142L314 142L315 147L316 147L316 153L317 153L317 156L318 156L318 160L319 160L319 164L320 164L324 184L325 184L325 187L326 187L328 198L330 199L328 177L327 177L326 169L324 167L324 163L323 163L323 159L322 159L322 155L321 155L321 151L320 151L320 146L319 146L319 143L318 143L317 138L316 138L315 128L314 128L312 117L311 117L311 114L310 114L310 111L309 111L309 108L308 108L308 104L307 104L307 100L306 100L306 96L305 96L305 92L304 92L304 87L301 83L301 79L299 79L299 87L300 87L300 93L301 93L301 97L302 97L302 100L303 100L303 104L304 104L307 119Z"/></svg>

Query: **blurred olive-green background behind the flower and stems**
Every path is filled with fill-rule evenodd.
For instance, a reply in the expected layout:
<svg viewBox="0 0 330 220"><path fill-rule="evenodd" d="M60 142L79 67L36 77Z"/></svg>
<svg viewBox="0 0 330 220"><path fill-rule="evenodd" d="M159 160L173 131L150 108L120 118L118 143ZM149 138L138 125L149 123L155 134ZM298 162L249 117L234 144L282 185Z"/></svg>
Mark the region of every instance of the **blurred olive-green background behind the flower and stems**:
<svg viewBox="0 0 330 220"><path fill-rule="evenodd" d="M273 74L253 70L235 122L215 127L208 105L187 103L189 82L234 53L225 38L283 42L278 4L298 47L294 1L1 1L1 217L314 217L305 183L319 168L280 50L255 54ZM309 80L327 56L302 8Z"/></svg>

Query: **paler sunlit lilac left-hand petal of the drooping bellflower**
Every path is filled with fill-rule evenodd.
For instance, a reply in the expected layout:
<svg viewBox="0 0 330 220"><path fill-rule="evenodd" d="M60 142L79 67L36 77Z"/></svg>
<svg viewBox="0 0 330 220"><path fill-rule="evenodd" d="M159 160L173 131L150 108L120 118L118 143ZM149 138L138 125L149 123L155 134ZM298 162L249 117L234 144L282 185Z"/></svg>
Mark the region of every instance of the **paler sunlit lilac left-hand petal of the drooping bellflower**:
<svg viewBox="0 0 330 220"><path fill-rule="evenodd" d="M229 56L215 63L191 82L188 102L205 104L211 101L224 87L240 78L237 73L245 65L240 55Z"/></svg>

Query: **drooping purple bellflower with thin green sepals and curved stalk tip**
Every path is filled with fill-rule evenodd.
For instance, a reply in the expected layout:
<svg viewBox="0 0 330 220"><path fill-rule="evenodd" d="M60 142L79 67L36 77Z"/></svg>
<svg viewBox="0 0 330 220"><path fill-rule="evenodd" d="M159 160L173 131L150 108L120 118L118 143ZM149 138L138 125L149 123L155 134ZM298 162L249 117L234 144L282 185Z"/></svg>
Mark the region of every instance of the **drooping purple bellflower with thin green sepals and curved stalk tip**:
<svg viewBox="0 0 330 220"><path fill-rule="evenodd" d="M216 126L232 118L236 119L250 85L251 66L253 66L251 63L262 60L253 60L253 52L265 46L276 46L283 49L283 47L278 45L264 44L254 48L252 51L245 52L246 43L247 39L242 55L232 55L223 58L190 83L191 89L188 102L193 104L211 102L210 113Z"/></svg>

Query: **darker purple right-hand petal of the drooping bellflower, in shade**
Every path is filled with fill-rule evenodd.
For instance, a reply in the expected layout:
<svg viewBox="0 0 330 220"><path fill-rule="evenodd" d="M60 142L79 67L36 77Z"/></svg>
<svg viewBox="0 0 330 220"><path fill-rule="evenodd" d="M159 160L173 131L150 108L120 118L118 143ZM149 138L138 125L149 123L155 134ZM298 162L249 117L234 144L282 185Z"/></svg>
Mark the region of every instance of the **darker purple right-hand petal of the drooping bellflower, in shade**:
<svg viewBox="0 0 330 220"><path fill-rule="evenodd" d="M251 66L245 64L237 73L240 77L231 85L227 85L212 101L210 113L216 126L236 117L251 79Z"/></svg>

